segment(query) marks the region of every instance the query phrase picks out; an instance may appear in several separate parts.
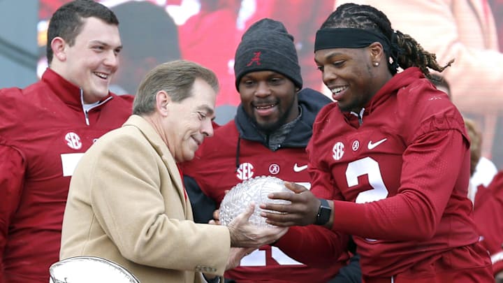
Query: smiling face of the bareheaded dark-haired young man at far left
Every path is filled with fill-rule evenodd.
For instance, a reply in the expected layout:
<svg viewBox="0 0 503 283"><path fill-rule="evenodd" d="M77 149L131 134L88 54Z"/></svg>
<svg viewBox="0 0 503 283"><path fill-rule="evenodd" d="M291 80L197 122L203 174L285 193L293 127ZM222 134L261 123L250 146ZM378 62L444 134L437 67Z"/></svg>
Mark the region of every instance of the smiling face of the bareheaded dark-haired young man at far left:
<svg viewBox="0 0 503 283"><path fill-rule="evenodd" d="M51 68L82 88L85 103L94 103L108 95L110 80L119 67L117 55L122 43L117 25L96 17L82 21L82 31L72 46L60 37L52 40Z"/></svg>

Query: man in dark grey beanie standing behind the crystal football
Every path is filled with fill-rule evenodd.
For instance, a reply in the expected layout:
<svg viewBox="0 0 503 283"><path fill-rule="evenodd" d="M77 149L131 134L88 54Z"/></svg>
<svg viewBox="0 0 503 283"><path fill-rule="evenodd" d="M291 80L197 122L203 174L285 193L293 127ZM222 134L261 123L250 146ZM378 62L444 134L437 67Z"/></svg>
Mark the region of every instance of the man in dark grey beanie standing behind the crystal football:
<svg viewBox="0 0 503 283"><path fill-rule="evenodd" d="M181 164L196 222L207 223L225 191L253 177L270 175L309 186L305 147L314 117L331 102L302 89L293 36L275 20L249 27L235 52L234 71L241 99L235 119L215 129L196 157ZM349 237L334 237L346 249ZM349 261L350 254L343 253L337 262L305 266L284 254L279 242L245 256L225 274L228 282L360 282L358 257Z"/></svg>

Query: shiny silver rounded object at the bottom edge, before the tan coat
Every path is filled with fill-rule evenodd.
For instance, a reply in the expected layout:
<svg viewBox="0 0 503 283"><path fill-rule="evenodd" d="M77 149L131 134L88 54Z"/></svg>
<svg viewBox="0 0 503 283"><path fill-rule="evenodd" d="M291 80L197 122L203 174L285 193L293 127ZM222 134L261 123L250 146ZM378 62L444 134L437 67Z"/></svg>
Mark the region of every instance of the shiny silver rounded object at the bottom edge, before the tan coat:
<svg viewBox="0 0 503 283"><path fill-rule="evenodd" d="M140 283L117 263L96 256L75 256L53 263L50 283Z"/></svg>

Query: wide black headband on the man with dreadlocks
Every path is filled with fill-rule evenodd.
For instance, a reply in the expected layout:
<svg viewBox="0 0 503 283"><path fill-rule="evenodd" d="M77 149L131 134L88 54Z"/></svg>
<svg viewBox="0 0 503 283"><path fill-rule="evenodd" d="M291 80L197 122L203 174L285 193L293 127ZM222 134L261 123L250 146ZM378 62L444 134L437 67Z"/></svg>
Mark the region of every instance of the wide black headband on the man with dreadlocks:
<svg viewBox="0 0 503 283"><path fill-rule="evenodd" d="M384 50L390 51L391 43L382 34L367 29L326 28L316 31L314 52L331 48L364 48L379 41Z"/></svg>

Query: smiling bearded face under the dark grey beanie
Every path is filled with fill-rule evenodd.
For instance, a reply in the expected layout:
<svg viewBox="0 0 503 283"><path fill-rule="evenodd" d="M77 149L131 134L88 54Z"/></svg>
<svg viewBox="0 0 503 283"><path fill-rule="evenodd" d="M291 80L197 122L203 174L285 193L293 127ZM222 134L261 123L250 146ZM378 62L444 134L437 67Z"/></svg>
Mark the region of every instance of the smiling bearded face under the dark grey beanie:
<svg viewBox="0 0 503 283"><path fill-rule="evenodd" d="M263 131L274 131L298 116L296 87L280 73L247 73L239 82L239 92L245 113Z"/></svg>

